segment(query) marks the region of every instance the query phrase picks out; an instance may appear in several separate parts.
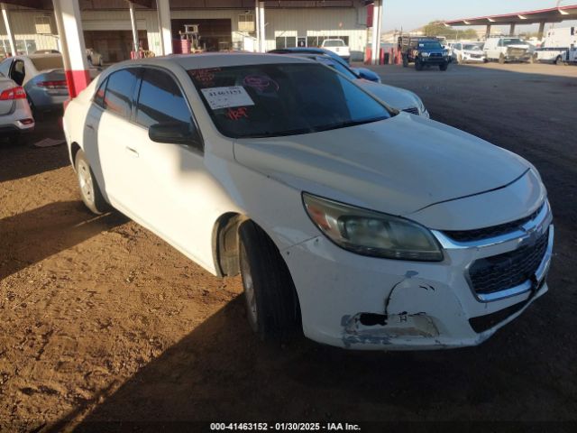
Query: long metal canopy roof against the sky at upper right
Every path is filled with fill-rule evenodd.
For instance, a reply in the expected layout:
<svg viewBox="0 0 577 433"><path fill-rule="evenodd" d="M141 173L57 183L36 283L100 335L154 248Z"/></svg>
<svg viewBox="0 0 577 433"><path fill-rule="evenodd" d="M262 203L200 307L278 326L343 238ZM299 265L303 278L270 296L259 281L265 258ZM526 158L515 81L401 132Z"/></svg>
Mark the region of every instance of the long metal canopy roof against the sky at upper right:
<svg viewBox="0 0 577 433"><path fill-rule="evenodd" d="M534 23L561 23L577 19L577 5L552 7L536 11L517 12L515 14L488 15L476 18L445 21L445 25L507 25Z"/></svg>

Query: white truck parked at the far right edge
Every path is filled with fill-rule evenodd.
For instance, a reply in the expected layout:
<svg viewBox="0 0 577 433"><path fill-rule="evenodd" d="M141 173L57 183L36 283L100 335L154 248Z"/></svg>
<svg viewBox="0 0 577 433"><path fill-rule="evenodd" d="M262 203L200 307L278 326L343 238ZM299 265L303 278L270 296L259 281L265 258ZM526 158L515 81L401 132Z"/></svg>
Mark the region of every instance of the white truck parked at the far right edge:
<svg viewBox="0 0 577 433"><path fill-rule="evenodd" d="M577 32L575 27L551 29L545 34L545 41L533 54L533 60L546 63L577 62Z"/></svg>

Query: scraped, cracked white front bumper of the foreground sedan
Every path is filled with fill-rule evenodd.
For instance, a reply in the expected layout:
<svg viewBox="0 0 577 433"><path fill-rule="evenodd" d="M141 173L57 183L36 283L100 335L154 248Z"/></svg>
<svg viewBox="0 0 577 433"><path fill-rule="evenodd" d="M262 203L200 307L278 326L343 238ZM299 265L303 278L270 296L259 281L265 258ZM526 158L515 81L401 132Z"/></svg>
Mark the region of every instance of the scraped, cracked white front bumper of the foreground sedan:
<svg viewBox="0 0 577 433"><path fill-rule="evenodd" d="M537 236L546 236L546 250L527 281L489 297L476 293L469 278L472 263L516 251ZM440 239L442 263L363 257L324 236L283 253L307 337L350 349L424 350L479 345L522 314L548 290L553 240L546 205L522 232L476 244Z"/></svg>

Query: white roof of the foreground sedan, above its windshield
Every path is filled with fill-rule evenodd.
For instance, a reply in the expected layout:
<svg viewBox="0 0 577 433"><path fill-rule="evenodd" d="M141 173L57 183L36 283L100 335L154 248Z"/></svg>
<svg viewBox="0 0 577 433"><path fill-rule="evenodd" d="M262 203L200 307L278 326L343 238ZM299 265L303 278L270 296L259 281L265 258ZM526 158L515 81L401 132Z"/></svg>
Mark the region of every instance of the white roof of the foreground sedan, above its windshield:
<svg viewBox="0 0 577 433"><path fill-rule="evenodd" d="M304 63L311 60L277 54L208 52L202 54L171 54L151 59L127 60L118 65L167 65L177 64L183 69L205 69L275 63Z"/></svg>

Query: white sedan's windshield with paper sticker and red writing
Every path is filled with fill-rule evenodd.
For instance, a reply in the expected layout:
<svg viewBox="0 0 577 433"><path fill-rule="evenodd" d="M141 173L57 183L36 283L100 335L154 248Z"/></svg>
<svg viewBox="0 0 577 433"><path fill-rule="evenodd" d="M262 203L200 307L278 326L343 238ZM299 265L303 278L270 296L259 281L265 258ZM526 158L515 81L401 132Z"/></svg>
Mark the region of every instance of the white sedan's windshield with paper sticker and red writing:
<svg viewBox="0 0 577 433"><path fill-rule="evenodd" d="M316 63L191 69L216 128L228 137L309 134L388 119L377 100Z"/></svg>

